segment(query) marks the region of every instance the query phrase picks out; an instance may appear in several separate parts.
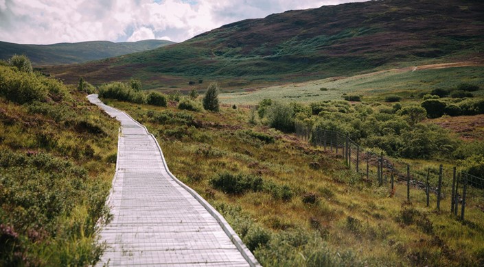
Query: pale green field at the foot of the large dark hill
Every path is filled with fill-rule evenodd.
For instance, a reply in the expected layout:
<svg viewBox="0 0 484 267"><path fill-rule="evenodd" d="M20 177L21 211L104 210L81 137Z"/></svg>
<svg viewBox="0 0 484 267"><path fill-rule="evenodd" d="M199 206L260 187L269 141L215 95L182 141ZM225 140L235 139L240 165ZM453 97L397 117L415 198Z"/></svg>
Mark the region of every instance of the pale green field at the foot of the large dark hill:
<svg viewBox="0 0 484 267"><path fill-rule="evenodd" d="M360 94L364 101L382 101L384 97L396 94L403 98L402 101L412 101L419 93L430 92L435 88L453 89L461 83L484 84L483 66L412 70L393 69L352 77L270 86L249 92L223 93L220 94L220 100L227 104L253 105L262 99L309 103L342 99L343 94ZM327 90L322 91L321 88ZM484 90L476 96L484 96Z"/></svg>

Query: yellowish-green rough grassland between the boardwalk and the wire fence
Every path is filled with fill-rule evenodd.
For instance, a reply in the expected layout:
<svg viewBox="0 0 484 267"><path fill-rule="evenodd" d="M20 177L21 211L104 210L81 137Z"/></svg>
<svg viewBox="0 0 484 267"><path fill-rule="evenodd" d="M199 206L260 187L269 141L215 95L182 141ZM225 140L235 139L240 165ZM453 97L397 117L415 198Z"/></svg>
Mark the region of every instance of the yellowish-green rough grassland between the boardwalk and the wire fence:
<svg viewBox="0 0 484 267"><path fill-rule="evenodd" d="M172 173L227 218L264 266L472 266L482 261L483 213L477 207L469 207L474 223L463 225L448 212L424 207L422 190L412 188L414 203L408 204L403 184L397 183L392 196L387 186L349 172L341 156L249 124L248 110L228 107L218 114L109 103L148 126ZM264 142L261 133L275 142ZM222 178L237 179L249 189L224 190ZM450 208L447 198L441 208Z"/></svg>

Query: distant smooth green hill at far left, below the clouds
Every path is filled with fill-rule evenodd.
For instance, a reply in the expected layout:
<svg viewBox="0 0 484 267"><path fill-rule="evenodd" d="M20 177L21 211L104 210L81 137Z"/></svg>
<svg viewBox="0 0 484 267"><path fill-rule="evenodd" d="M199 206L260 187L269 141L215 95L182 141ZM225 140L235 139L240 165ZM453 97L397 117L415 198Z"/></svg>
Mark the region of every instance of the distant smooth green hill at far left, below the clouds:
<svg viewBox="0 0 484 267"><path fill-rule="evenodd" d="M140 51L163 47L174 42L165 40L142 40L139 42L62 42L59 44L14 44L0 42L0 59L14 54L25 54L36 65L83 63L91 60L112 58Z"/></svg>

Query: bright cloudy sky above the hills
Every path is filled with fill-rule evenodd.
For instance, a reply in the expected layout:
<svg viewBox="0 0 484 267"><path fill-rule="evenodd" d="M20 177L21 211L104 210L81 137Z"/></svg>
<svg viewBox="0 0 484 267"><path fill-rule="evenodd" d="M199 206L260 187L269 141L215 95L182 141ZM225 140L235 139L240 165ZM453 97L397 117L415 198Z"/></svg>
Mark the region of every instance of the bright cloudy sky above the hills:
<svg viewBox="0 0 484 267"><path fill-rule="evenodd" d="M0 41L183 42L246 18L349 1L365 0L0 0Z"/></svg>

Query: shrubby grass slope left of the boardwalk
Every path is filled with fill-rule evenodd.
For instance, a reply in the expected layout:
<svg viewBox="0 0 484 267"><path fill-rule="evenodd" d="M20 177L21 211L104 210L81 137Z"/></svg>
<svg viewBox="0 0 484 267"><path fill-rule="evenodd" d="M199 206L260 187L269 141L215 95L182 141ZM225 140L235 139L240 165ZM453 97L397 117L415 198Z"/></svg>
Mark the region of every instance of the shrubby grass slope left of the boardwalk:
<svg viewBox="0 0 484 267"><path fill-rule="evenodd" d="M0 266L87 266L117 123L60 81L0 66Z"/></svg>

